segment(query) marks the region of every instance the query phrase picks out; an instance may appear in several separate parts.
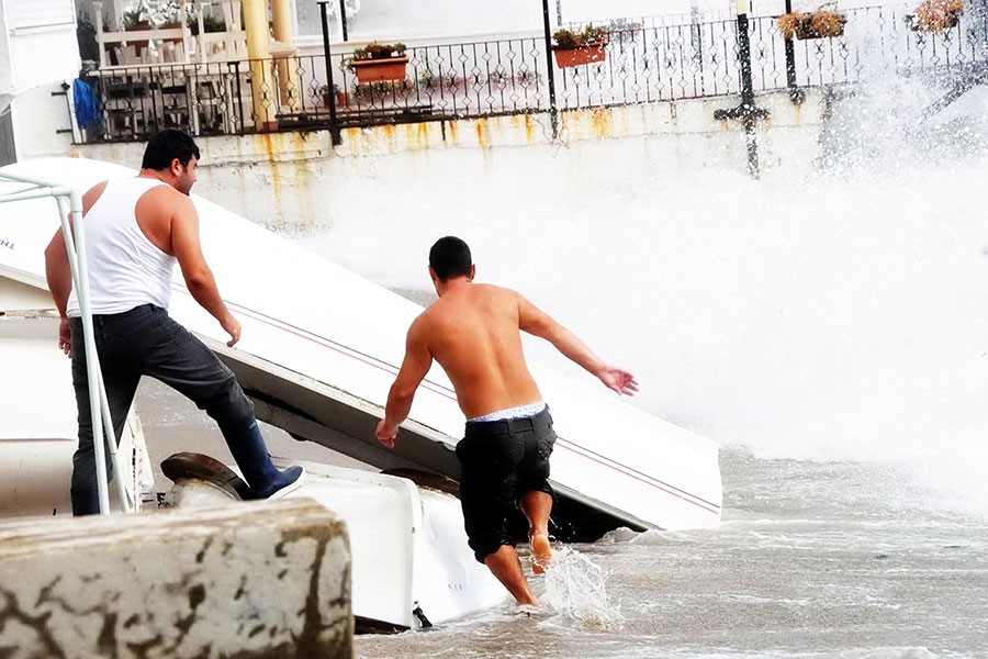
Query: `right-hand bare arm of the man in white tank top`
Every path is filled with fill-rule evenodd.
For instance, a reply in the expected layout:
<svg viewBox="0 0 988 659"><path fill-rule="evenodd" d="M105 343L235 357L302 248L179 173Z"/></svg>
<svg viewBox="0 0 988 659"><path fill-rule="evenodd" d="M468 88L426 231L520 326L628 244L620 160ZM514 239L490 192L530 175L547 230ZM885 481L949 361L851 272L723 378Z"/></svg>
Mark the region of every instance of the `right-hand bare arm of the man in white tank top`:
<svg viewBox="0 0 988 659"><path fill-rule="evenodd" d="M192 200L182 194L173 194L169 200L172 204L173 216L171 220L171 248L175 258L182 269L182 278L192 298L210 314L220 321L224 332L229 334L227 346L233 346L240 339L240 323L226 308L226 302L220 295L216 279L206 264L202 254L202 244L199 239L199 214Z"/></svg>

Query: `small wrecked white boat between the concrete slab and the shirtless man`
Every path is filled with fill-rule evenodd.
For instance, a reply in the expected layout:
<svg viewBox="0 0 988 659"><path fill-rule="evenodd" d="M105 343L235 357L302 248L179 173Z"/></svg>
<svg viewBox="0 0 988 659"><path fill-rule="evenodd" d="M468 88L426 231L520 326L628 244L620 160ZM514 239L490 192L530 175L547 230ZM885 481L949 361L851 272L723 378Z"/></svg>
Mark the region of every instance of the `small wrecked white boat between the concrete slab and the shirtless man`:
<svg viewBox="0 0 988 659"><path fill-rule="evenodd" d="M167 505L235 502L247 483L235 468L220 465L214 471L211 463L218 465L192 454L165 460L166 474L176 481ZM305 481L289 496L313 499L347 523L358 632L429 627L510 600L467 546L460 502L449 492L452 481L431 488L398 476L321 462L276 459L274 463L305 467Z"/></svg>

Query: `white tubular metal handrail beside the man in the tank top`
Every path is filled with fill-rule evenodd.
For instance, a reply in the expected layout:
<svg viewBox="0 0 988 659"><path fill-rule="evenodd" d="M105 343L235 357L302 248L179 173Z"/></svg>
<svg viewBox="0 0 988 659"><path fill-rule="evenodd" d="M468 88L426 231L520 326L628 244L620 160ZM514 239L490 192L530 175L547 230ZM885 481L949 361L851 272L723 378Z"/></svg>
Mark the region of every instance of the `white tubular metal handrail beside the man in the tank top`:
<svg viewBox="0 0 988 659"><path fill-rule="evenodd" d="M0 171L0 179L7 179L27 187L16 192L0 194L0 203L24 201L27 199L41 199L52 197L55 199L61 221L61 235L65 238L68 253L69 268L72 272L72 283L76 288L76 297L79 299L79 309L82 316L82 337L86 351L87 379L89 381L89 411L92 423L92 444L96 454L97 488L100 499L100 513L110 512L110 494L106 485L106 459L104 453L104 437L110 447L110 459L113 470L117 474L116 485L120 494L120 507L124 512L131 510L127 503L126 487L123 472L116 456L116 435L113 431L113 420L110 414L110 402L106 398L106 389L103 384L103 373L100 369L100 358L97 354L96 339L93 338L92 308L89 300L89 270L86 258L86 236L82 231L82 194L70 186L58 186L47 181L35 180ZM66 212L68 211L68 212ZM71 222L70 220L71 219ZM75 238L72 236L75 227ZM99 423L97 420L101 420Z"/></svg>

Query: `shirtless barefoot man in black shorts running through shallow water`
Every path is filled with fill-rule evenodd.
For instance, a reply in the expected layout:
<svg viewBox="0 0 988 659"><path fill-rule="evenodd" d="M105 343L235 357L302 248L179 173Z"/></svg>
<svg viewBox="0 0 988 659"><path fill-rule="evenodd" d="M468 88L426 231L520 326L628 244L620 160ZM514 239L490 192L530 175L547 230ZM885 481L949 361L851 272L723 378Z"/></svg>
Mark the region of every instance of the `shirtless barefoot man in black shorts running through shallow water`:
<svg viewBox="0 0 988 659"><path fill-rule="evenodd" d="M555 348L620 394L633 394L631 373L600 361L572 332L515 291L473 283L475 267L460 238L440 238L429 252L429 277L439 300L408 330L405 358L388 394L377 437L394 447L415 390L433 359L449 376L467 416L457 444L460 500L470 548L519 604L537 605L508 537L514 506L528 517L532 569L549 565L549 456L555 442L552 417L528 372L519 331Z"/></svg>

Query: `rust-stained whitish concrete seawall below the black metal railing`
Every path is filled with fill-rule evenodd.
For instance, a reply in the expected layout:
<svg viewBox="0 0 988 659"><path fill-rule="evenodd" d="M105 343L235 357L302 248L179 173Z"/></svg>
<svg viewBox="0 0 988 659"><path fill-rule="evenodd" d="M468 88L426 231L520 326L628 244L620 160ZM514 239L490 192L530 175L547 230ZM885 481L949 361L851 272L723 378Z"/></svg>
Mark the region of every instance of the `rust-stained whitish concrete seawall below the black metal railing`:
<svg viewBox="0 0 988 659"><path fill-rule="evenodd" d="M786 92L759 96L771 112L760 122L763 170L809 167L820 155L826 124L823 92L808 90L793 105ZM701 168L744 172L744 132L714 112L737 98L648 103L568 111L559 139L548 113L349 129L333 147L328 131L201 137L195 191L228 210L279 230L308 230L332 197L360 179L402 177L403 188L436 187L437 172L463 172L473 185L485 171L512 167L503 160L536 158L561 168L577 185L600 185L599 163L649 171ZM81 157L138 166L143 143L74 147ZM519 155L524 154L524 155Z"/></svg>

